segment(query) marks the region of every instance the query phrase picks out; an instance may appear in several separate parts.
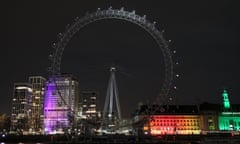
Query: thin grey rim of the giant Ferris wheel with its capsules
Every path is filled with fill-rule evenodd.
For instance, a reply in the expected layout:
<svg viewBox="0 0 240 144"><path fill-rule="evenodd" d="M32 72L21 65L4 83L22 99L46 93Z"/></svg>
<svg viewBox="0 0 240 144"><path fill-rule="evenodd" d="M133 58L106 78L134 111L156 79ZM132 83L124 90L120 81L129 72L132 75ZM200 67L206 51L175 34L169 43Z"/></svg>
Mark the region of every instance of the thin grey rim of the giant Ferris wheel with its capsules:
<svg viewBox="0 0 240 144"><path fill-rule="evenodd" d="M62 55L71 38L86 25L104 19L118 19L133 23L144 29L155 40L158 47L161 49L164 60L164 80L162 86L159 88L160 93L156 96L156 102L159 105L164 104L168 99L168 94L173 80L174 64L172 60L172 51L169 48L169 41L164 39L163 31L159 31L157 29L155 21L150 22L146 19L146 15L137 15L135 10L130 12L124 10L124 8L113 9L112 7L109 7L108 9L104 10L98 8L97 11L86 13L81 18L76 17L71 25L66 26L65 32L58 34L58 41L52 45L54 51L49 55L51 66L48 68L50 74L53 76L61 74Z"/></svg>

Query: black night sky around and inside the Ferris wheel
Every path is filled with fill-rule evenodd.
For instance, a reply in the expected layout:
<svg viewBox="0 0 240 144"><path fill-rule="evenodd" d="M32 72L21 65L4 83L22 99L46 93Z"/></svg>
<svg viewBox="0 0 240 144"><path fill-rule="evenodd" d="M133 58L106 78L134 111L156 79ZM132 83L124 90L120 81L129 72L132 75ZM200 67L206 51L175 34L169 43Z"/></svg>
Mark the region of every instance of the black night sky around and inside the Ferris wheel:
<svg viewBox="0 0 240 144"><path fill-rule="evenodd" d="M172 40L177 50L171 90L177 104L204 101L221 103L223 88L229 90L232 103L240 103L240 10L238 1L15 1L8 3L7 36L2 44L0 113L10 114L14 82L28 76L47 77L48 55L57 34L64 32L75 17L82 17L98 7L125 7L136 14L147 15L165 30L164 38ZM79 78L81 90L99 91L99 107L105 98L109 67L116 63L120 104L128 117L137 103L155 99L164 77L161 50L140 27L120 20L102 20L81 29L68 43L61 71Z"/></svg>

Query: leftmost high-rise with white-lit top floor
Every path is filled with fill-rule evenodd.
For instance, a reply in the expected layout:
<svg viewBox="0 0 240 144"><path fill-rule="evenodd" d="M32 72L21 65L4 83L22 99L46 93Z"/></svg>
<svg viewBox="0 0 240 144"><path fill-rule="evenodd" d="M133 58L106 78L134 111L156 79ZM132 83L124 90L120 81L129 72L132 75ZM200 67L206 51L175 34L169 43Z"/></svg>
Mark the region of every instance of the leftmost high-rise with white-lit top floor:
<svg viewBox="0 0 240 144"><path fill-rule="evenodd" d="M15 83L13 87L11 130L24 132L30 128L32 85L29 83Z"/></svg>

